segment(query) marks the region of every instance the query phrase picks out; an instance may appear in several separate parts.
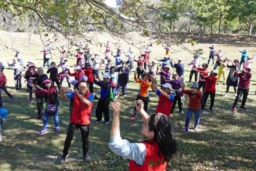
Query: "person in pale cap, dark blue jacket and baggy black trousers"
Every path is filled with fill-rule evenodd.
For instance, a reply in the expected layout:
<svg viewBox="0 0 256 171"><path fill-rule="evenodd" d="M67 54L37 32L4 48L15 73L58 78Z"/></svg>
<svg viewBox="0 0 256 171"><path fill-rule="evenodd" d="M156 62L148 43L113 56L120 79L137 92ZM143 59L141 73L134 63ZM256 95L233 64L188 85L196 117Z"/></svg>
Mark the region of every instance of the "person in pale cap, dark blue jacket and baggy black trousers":
<svg viewBox="0 0 256 171"><path fill-rule="evenodd" d="M97 119L93 121L94 123L102 122L102 113L104 114L104 124L109 122L109 104L110 104L110 89L111 84L108 82L110 75L105 74L103 76L103 82L96 78L96 74L93 75L94 83L100 86L100 99L96 107L96 117ZM112 90L111 90L112 91Z"/></svg>

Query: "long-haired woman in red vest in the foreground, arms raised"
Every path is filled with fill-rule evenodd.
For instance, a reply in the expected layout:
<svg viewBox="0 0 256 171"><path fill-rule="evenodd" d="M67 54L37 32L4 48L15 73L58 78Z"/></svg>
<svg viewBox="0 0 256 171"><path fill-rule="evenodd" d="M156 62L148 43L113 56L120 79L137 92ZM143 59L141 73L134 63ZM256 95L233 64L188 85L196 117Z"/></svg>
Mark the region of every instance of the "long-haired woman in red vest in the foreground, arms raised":
<svg viewBox="0 0 256 171"><path fill-rule="evenodd" d="M138 105L137 105L138 104ZM130 159L129 170L158 170L166 169L166 164L172 161L177 153L177 143L172 132L171 123L162 113L148 115L143 109L141 100L135 102L136 109L142 116L142 134L148 140L142 143L130 143L120 137L121 103L112 103L113 122L108 146L117 155Z"/></svg>

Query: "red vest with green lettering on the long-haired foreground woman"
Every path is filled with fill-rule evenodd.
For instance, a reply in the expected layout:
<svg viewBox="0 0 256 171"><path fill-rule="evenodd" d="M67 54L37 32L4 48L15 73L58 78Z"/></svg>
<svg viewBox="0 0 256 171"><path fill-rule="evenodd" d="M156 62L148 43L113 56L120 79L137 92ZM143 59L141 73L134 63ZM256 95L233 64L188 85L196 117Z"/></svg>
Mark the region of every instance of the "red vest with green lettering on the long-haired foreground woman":
<svg viewBox="0 0 256 171"><path fill-rule="evenodd" d="M169 113L170 114L170 113ZM160 153L158 156L159 146L156 141L143 142L146 146L145 162L142 166L136 165L135 161L130 160L129 171L165 171L167 162L164 160L164 155Z"/></svg>

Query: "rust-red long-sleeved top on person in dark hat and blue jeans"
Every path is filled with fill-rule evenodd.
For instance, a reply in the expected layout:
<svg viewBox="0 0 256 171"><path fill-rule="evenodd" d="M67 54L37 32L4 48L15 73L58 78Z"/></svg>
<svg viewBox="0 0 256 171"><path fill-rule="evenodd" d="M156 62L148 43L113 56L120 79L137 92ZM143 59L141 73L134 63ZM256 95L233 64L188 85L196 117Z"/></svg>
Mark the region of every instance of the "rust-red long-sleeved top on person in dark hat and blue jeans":
<svg viewBox="0 0 256 171"><path fill-rule="evenodd" d="M196 91L195 94L192 94L192 92L190 90L182 89L182 92L189 96L188 109L190 109L190 110L200 110L201 109L201 99L202 99L201 91Z"/></svg>

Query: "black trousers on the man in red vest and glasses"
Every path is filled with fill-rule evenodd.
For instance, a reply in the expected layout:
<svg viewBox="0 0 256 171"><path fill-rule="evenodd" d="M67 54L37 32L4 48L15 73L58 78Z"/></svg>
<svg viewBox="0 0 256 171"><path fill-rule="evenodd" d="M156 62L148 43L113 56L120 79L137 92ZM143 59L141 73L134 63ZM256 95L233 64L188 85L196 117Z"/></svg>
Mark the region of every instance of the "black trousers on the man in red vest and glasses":
<svg viewBox="0 0 256 171"><path fill-rule="evenodd" d="M71 143L76 131L78 130L78 128L80 128L82 142L83 142L83 156L88 156L90 125L79 125L79 124L70 122L69 126L68 126L67 136L66 136L66 139L64 142L62 157L65 157L68 154L68 149L70 147L70 143Z"/></svg>

